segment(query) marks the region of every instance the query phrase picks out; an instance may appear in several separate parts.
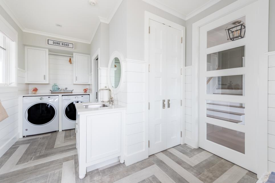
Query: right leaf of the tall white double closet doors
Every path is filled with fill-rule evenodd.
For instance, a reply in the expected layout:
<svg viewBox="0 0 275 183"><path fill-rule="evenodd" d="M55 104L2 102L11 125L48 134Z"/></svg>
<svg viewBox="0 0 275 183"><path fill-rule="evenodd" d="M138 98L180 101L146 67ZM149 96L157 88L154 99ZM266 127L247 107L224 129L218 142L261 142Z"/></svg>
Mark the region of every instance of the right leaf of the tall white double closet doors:
<svg viewBox="0 0 275 183"><path fill-rule="evenodd" d="M167 27L167 149L180 144L181 31Z"/></svg>

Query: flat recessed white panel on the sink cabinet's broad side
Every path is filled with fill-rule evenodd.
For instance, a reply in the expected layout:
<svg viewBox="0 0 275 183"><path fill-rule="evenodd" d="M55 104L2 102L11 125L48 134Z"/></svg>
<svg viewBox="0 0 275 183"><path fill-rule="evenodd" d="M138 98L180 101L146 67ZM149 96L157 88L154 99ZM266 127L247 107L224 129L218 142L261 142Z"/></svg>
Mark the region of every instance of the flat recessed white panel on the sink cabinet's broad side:
<svg viewBox="0 0 275 183"><path fill-rule="evenodd" d="M87 116L86 140L87 163L120 153L121 113Z"/></svg>

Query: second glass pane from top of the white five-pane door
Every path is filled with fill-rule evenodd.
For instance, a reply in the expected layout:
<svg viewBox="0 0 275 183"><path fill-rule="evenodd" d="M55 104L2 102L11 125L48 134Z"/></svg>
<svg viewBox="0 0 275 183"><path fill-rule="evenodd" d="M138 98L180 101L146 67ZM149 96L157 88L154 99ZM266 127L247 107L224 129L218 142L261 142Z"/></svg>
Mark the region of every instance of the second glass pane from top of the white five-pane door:
<svg viewBox="0 0 275 183"><path fill-rule="evenodd" d="M245 46L223 50L207 55L207 71L245 66Z"/></svg>

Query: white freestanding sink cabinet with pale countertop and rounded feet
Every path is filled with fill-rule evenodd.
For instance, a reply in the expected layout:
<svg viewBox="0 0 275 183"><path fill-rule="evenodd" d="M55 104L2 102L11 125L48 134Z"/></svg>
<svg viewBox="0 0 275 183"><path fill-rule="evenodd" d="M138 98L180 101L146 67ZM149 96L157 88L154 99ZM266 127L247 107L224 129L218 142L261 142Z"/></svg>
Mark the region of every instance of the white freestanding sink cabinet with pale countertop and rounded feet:
<svg viewBox="0 0 275 183"><path fill-rule="evenodd" d="M91 105L91 108L83 105ZM94 108L94 105L102 104L75 104L79 178L85 177L87 167L97 169L118 159L124 163L126 107L104 103L106 107Z"/></svg>

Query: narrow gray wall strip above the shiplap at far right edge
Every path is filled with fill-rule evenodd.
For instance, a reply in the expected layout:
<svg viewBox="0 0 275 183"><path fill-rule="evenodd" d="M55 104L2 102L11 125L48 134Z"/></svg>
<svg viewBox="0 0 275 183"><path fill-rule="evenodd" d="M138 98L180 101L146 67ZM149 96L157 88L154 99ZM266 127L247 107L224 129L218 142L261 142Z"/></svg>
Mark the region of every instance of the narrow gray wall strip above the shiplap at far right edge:
<svg viewBox="0 0 275 183"><path fill-rule="evenodd" d="M275 51L275 0L269 0L269 45L268 51Z"/></svg>

